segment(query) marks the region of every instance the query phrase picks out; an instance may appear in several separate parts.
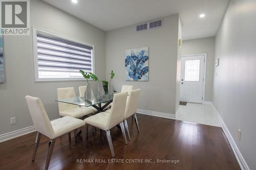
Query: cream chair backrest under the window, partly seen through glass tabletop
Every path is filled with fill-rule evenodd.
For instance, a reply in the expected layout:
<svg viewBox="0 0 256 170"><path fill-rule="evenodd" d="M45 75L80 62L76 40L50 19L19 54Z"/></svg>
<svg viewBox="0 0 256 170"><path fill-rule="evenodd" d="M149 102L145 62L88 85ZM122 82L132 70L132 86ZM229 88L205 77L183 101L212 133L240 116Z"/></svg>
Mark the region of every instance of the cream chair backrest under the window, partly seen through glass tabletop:
<svg viewBox="0 0 256 170"><path fill-rule="evenodd" d="M57 88L57 95L58 99L69 99L69 98L75 98L76 93L74 90L74 87L67 87L67 88ZM59 112L77 108L78 106L58 102Z"/></svg>

